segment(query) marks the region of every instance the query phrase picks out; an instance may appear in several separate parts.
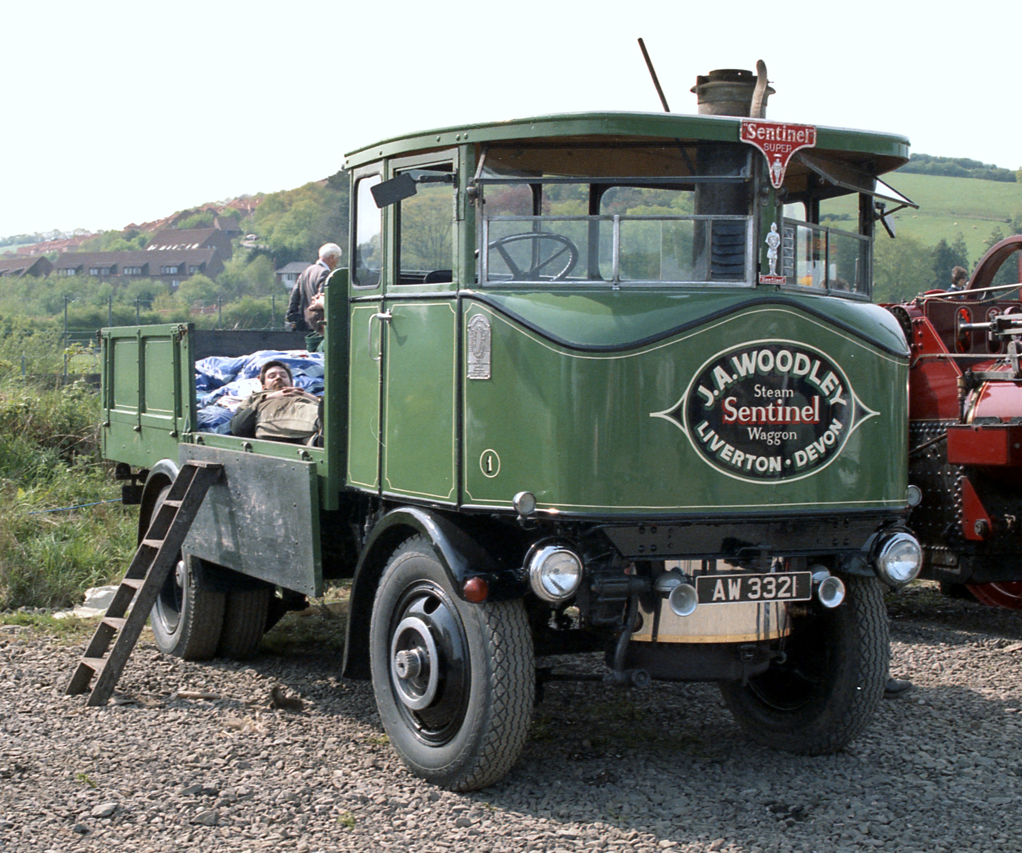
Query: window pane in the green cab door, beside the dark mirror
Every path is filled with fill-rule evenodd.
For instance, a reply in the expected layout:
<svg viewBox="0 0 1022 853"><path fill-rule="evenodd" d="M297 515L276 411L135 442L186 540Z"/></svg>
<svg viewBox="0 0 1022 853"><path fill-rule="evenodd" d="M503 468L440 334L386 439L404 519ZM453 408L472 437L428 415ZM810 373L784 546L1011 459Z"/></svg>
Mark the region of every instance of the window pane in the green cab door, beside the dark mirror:
<svg viewBox="0 0 1022 853"><path fill-rule="evenodd" d="M431 170L436 167L431 167ZM449 183L419 184L399 211L399 284L453 281L454 190Z"/></svg>

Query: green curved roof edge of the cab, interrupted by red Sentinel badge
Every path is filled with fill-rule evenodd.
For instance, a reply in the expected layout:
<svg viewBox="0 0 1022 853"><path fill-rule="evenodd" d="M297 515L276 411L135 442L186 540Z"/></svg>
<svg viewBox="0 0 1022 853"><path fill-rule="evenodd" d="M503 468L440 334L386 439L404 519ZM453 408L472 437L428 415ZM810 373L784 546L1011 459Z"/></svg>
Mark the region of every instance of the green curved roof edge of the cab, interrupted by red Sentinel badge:
<svg viewBox="0 0 1022 853"><path fill-rule="evenodd" d="M346 155L345 169L355 169L381 157L425 153L465 144L547 144L604 141L651 144L683 142L740 142L741 119L730 115L685 115L667 112L568 112L439 128L392 137L356 149ZM909 140L897 134L845 128L817 127L815 153L849 165L868 161L882 175L909 161Z"/></svg>

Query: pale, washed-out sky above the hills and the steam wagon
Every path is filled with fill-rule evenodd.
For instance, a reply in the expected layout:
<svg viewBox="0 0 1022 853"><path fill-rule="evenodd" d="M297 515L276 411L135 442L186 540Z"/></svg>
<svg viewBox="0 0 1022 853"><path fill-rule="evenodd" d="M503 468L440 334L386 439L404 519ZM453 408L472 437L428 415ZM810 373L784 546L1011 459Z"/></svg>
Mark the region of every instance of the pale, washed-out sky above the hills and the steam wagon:
<svg viewBox="0 0 1022 853"><path fill-rule="evenodd" d="M324 178L398 134L671 109L766 62L769 119L1022 167L1018 2L19 3L0 12L0 235L123 228ZM896 185L896 179L894 180Z"/></svg>

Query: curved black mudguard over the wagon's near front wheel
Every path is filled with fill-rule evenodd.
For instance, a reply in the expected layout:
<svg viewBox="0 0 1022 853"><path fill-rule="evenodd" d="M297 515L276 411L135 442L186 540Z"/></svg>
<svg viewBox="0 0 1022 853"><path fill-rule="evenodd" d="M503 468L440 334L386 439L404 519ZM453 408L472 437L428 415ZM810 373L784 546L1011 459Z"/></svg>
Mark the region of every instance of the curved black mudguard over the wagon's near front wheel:
<svg viewBox="0 0 1022 853"><path fill-rule="evenodd" d="M369 534L355 569L341 668L345 678L369 677L369 621L376 588L390 555L415 535L424 536L432 543L452 588L460 598L464 599L463 587L470 577L486 581L487 601L507 601L525 593L518 573L502 569L475 538L451 519L418 507L391 510Z"/></svg>

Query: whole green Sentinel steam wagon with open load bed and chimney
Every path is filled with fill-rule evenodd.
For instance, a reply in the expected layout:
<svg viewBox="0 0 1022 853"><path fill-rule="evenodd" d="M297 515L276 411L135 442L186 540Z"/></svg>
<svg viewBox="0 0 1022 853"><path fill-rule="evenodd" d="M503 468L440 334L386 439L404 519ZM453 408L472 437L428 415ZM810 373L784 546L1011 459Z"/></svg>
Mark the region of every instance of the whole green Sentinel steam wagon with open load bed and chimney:
<svg viewBox="0 0 1022 853"><path fill-rule="evenodd" d="M875 225L911 204L877 176L909 143L766 121L764 68L694 91L698 115L350 154L318 446L196 426L197 358L300 338L102 331L139 554L181 549L153 593L160 649L250 654L352 578L343 673L372 679L409 769L457 790L515 762L538 656L603 651L621 685L715 681L748 737L795 753L863 731L883 590L921 563L909 353L870 301ZM823 224L839 196L853 212ZM195 471L215 472L197 513L175 483ZM194 515L183 544L161 538L167 506Z"/></svg>

